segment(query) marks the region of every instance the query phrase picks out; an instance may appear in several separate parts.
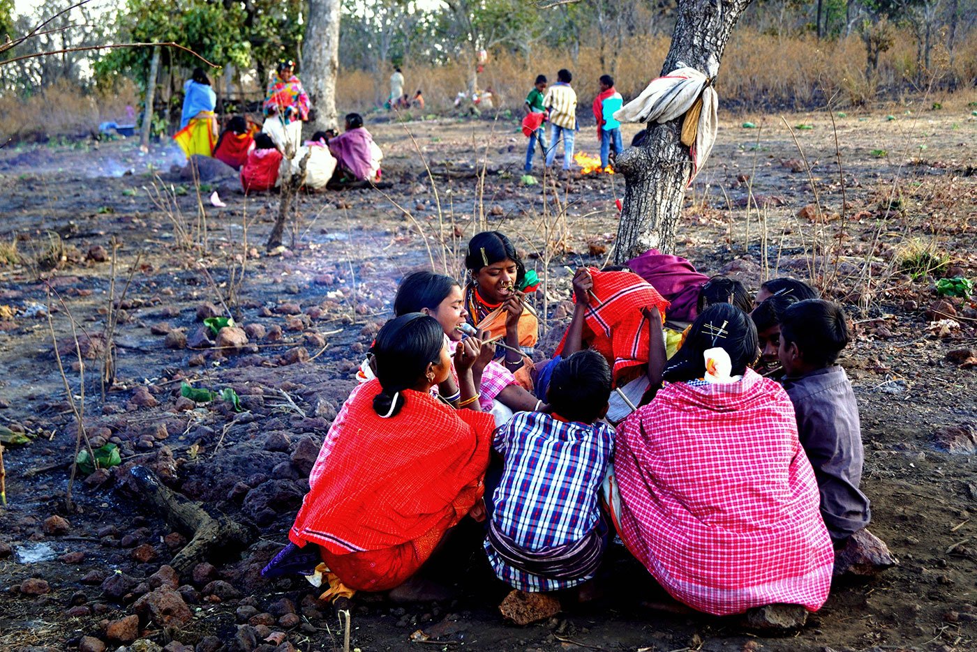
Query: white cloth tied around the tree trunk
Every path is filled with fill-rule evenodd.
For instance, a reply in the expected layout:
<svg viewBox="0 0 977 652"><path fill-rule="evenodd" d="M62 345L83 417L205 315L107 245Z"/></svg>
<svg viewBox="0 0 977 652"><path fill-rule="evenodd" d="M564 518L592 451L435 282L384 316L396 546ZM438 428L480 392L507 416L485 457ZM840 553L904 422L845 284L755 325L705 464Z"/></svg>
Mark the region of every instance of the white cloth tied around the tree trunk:
<svg viewBox="0 0 977 652"><path fill-rule="evenodd" d="M644 91L614 114L619 122L665 123L685 115L682 144L689 147L696 178L716 142L719 98L711 80L696 68L676 68L653 79Z"/></svg>

